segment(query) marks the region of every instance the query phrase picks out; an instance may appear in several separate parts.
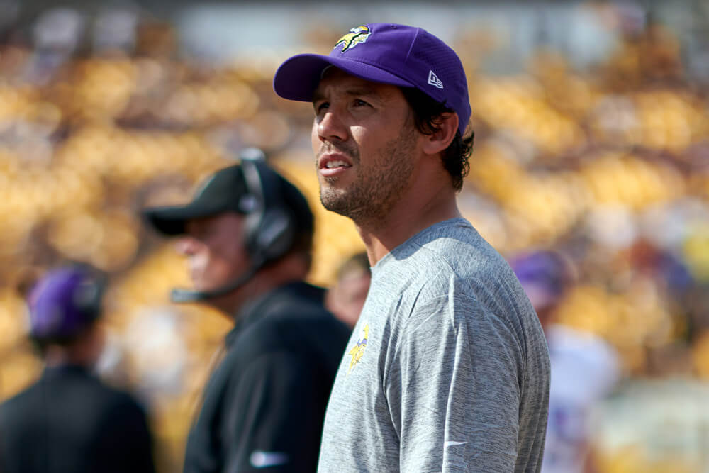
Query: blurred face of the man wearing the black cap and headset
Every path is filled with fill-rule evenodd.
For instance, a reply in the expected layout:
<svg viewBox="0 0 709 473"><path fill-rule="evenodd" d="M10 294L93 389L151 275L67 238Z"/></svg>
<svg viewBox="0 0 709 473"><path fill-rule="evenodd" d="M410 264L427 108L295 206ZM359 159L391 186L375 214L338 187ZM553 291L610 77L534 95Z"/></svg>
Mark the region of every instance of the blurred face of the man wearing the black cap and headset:
<svg viewBox="0 0 709 473"><path fill-rule="evenodd" d="M188 258L194 289L218 289L247 269L244 225L244 216L230 212L187 221L177 251Z"/></svg>

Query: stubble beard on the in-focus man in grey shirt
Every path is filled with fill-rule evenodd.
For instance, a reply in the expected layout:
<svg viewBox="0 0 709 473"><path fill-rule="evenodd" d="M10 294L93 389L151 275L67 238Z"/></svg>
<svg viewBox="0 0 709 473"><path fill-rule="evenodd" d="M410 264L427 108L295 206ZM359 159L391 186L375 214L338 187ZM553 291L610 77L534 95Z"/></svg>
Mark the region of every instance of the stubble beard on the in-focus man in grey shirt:
<svg viewBox="0 0 709 473"><path fill-rule="evenodd" d="M357 179L347 187L338 188L337 177L325 177L329 185L320 183L323 207L350 218L358 226L376 226L386 221L413 173L414 138L414 130L404 126L366 167L362 167L359 150L347 150L357 169Z"/></svg>

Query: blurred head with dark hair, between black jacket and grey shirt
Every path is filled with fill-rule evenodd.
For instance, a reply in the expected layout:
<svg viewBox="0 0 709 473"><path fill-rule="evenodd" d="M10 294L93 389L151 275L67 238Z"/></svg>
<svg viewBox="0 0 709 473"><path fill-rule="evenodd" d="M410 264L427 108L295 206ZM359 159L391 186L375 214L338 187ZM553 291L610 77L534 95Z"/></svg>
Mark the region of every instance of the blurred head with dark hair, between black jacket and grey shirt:
<svg viewBox="0 0 709 473"><path fill-rule="evenodd" d="M350 328L354 328L367 299L372 270L369 268L367 252L359 252L348 257L337 268L335 283L328 290L325 306Z"/></svg>

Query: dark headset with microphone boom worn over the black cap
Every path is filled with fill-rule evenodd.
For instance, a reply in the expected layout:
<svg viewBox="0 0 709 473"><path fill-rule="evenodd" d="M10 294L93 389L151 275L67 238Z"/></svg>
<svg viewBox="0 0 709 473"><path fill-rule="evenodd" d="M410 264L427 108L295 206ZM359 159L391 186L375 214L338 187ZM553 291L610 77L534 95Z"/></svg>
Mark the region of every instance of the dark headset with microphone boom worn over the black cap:
<svg viewBox="0 0 709 473"><path fill-rule="evenodd" d="M286 205L283 179L266 165L258 148L240 153L246 192L239 201L240 213L246 213L245 244L252 264L243 274L224 286L208 291L173 289L173 302L194 302L224 296L248 282L259 269L284 256L296 235L294 214Z"/></svg>

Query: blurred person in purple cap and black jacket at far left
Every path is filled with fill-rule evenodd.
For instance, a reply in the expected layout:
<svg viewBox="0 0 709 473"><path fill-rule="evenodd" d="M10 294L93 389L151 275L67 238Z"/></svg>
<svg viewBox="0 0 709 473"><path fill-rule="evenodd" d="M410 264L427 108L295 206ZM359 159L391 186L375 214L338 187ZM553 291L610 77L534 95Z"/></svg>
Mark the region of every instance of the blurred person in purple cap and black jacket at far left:
<svg viewBox="0 0 709 473"><path fill-rule="evenodd" d="M84 269L50 272L30 294L42 377L0 406L0 470L153 472L145 412L90 369L103 346L103 283Z"/></svg>

